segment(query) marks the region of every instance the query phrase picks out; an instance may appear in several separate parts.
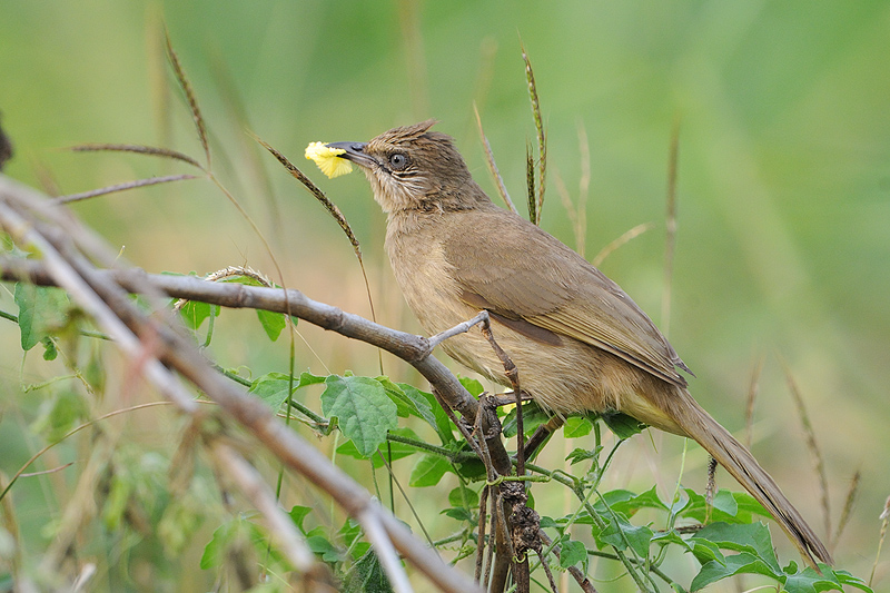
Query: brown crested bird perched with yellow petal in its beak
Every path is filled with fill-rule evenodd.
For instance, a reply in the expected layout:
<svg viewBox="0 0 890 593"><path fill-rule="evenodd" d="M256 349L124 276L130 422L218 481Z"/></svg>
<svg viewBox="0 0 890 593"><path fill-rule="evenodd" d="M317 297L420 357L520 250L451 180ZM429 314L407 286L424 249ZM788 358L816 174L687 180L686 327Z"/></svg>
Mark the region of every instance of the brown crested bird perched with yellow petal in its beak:
<svg viewBox="0 0 890 593"><path fill-rule="evenodd" d="M832 563L822 542L751 453L686 391L689 372L615 283L524 218L495 206L435 121L364 142L335 142L387 215L386 251L426 332L488 312L522 387L557 414L617 411L695 439L775 517L803 559ZM508 385L478 332L442 344L455 360Z"/></svg>

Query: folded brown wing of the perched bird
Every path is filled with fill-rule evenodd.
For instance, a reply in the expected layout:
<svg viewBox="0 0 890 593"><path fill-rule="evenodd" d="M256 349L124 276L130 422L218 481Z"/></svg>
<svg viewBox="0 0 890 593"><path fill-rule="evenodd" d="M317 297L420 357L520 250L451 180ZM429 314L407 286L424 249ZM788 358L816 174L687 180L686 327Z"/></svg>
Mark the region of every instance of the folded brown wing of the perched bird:
<svg viewBox="0 0 890 593"><path fill-rule="evenodd" d="M464 223L451 228L443 246L467 304L488 309L508 325L527 323L572 337L666 382L686 385L676 367L689 368L652 320L575 251L501 209L459 216ZM473 249L467 249L468 243Z"/></svg>

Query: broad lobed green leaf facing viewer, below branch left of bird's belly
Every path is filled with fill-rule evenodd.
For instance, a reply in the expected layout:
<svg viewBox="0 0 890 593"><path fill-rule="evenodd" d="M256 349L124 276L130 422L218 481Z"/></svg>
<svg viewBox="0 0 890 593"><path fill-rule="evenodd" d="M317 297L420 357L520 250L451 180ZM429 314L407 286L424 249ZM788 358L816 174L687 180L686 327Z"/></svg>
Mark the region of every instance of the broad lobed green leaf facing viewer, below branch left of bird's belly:
<svg viewBox="0 0 890 593"><path fill-rule="evenodd" d="M340 377L325 379L322 394L322 413L336 416L344 436L355 443L365 457L369 457L386 441L387 431L398 425L396 405L386 395L383 385L370 377Z"/></svg>

